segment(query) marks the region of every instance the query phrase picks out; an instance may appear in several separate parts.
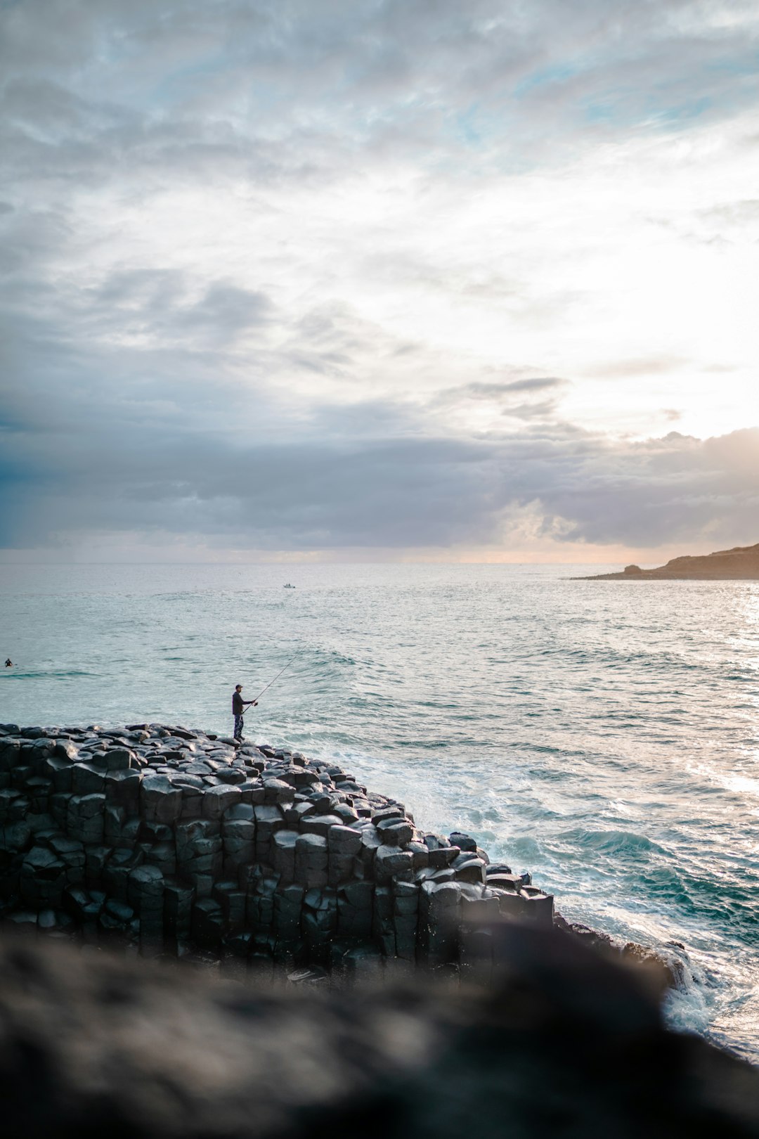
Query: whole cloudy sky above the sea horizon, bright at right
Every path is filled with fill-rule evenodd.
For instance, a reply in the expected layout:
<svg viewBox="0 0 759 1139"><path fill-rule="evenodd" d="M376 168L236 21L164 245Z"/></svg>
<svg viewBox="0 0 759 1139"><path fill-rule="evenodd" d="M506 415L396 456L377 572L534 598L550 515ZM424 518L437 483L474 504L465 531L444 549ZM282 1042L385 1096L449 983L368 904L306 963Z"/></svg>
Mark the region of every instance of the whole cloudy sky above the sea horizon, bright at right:
<svg viewBox="0 0 759 1139"><path fill-rule="evenodd" d="M0 0L0 560L759 541L754 0Z"/></svg>

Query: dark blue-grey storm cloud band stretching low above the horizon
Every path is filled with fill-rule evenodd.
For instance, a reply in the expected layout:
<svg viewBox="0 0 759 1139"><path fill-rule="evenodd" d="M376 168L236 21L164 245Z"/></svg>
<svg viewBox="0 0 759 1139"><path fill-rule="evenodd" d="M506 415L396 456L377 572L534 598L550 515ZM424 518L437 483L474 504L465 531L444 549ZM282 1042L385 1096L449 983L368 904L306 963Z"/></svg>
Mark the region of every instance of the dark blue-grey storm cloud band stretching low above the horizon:
<svg viewBox="0 0 759 1139"><path fill-rule="evenodd" d="M198 358L185 364L172 385L148 357L157 391L126 395L117 377L98 395L97 377L80 376L52 404L38 400L32 372L0 435L3 544L123 531L259 549L488 546L508 541L525 508L546 534L600 543L729 540L756 526L758 429L612 446L533 421L517 435L440 437L424 434L423 405L324 405L298 426L278 421L262 391L248 429L233 431L239 393L220 382L209 398Z"/></svg>

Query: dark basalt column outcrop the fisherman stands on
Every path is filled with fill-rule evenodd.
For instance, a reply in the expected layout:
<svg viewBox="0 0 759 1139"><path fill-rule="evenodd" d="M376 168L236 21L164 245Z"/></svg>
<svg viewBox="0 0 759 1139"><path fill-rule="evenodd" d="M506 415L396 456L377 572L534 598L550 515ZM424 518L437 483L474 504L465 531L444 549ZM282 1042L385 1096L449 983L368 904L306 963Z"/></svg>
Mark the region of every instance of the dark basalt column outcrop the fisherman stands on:
<svg viewBox="0 0 759 1139"><path fill-rule="evenodd" d="M6 923L232 969L485 975L482 924L554 917L528 874L336 764L183 727L0 726L0 859Z"/></svg>

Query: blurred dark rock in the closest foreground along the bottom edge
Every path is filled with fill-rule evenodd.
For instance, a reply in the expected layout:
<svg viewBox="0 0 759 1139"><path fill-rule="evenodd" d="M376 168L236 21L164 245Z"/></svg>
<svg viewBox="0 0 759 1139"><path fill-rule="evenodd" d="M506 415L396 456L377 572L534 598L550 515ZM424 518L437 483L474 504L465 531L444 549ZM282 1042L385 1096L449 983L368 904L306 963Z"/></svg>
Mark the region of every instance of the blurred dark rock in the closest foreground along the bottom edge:
<svg viewBox="0 0 759 1139"><path fill-rule="evenodd" d="M759 1136L759 1073L662 1027L644 970L493 926L488 991L251 989L0 941L6 1139ZM416 975L419 976L419 975Z"/></svg>

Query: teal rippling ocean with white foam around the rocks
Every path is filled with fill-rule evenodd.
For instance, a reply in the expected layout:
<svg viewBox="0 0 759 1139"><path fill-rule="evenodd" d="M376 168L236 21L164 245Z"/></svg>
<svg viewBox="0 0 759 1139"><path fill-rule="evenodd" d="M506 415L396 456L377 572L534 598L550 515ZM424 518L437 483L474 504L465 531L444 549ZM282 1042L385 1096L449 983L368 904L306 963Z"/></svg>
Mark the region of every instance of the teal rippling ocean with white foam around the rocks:
<svg viewBox="0 0 759 1139"><path fill-rule="evenodd" d="M558 909L686 962L670 1022L759 1060L759 583L613 566L0 566L0 721L335 757ZM291 581L295 589L283 589Z"/></svg>

